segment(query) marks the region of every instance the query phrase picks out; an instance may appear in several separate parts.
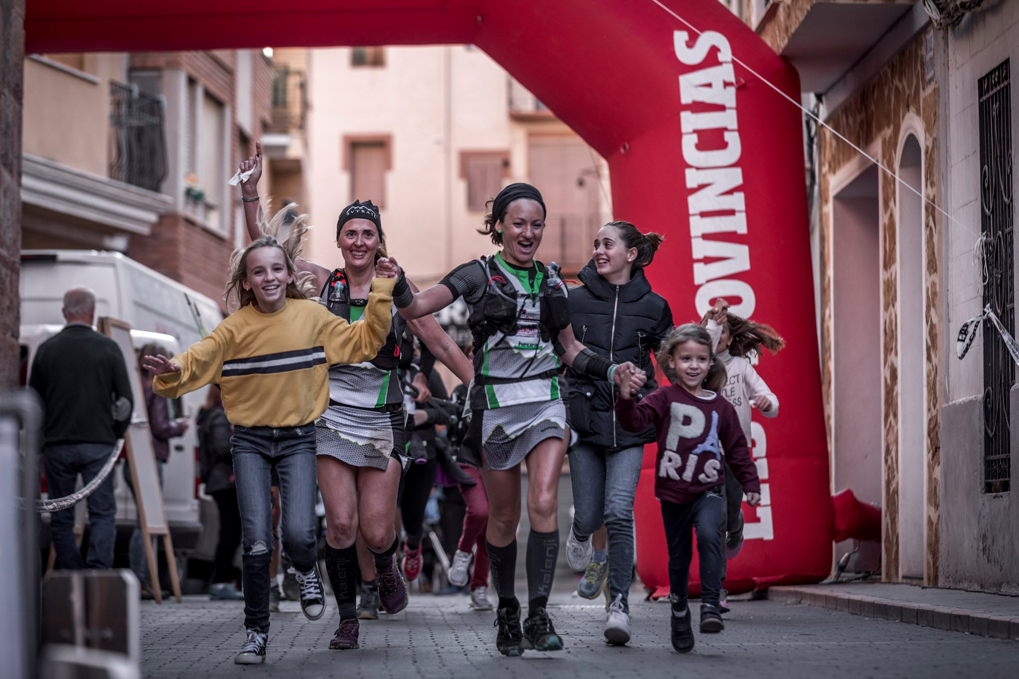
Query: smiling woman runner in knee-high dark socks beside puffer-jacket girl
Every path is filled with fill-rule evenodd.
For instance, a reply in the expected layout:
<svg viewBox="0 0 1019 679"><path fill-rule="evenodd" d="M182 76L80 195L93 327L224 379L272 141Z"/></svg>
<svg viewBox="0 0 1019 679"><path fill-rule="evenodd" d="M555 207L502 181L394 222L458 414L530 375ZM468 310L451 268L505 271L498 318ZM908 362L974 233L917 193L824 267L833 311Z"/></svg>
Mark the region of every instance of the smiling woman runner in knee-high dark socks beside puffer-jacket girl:
<svg viewBox="0 0 1019 679"><path fill-rule="evenodd" d="M559 549L558 482L570 430L561 390L560 360L599 379L621 381L632 363L616 364L586 349L574 336L566 284L554 265L534 257L545 229L545 204L530 184L511 184L491 202L479 231L501 251L453 269L442 281L395 302L406 319L428 316L460 296L473 304L475 377L469 395L474 412L462 446L483 450L488 492L488 556L499 597L496 647L506 656L525 648L558 650L562 640L546 605ZM380 267L396 267L389 260ZM393 299L396 299L396 294ZM527 460L529 615L520 622L514 591L520 463Z"/></svg>

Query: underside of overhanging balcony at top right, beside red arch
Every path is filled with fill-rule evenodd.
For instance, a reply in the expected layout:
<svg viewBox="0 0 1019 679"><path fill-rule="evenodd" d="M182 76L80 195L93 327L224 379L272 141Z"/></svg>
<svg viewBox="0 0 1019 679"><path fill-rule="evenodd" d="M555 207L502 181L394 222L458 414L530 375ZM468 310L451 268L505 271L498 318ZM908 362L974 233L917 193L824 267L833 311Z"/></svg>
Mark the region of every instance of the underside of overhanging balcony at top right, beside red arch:
<svg viewBox="0 0 1019 679"><path fill-rule="evenodd" d="M922 3L913 0L752 0L752 5L757 34L796 66L801 90L816 94L837 88L871 56L883 63L927 21ZM879 49L884 44L889 48Z"/></svg>

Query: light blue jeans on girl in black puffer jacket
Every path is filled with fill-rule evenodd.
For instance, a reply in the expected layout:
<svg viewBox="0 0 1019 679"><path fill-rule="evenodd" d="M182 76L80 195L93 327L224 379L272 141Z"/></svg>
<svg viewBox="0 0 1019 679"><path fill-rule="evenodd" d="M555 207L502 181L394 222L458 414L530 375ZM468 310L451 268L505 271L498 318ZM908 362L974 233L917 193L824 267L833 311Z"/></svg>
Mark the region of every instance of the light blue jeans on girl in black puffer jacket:
<svg viewBox="0 0 1019 679"><path fill-rule="evenodd" d="M590 535L605 524L608 592L611 599L623 596L623 610L628 613L634 566L634 497L643 458L643 446L606 453L597 446L579 443L570 451L574 534Z"/></svg>

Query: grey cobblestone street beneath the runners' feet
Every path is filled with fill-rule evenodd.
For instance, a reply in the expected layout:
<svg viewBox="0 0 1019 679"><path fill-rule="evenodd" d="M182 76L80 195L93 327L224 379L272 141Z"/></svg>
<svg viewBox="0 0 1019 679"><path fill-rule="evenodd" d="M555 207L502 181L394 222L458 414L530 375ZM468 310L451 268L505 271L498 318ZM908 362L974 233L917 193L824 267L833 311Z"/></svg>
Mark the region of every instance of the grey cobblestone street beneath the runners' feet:
<svg viewBox="0 0 1019 679"><path fill-rule="evenodd" d="M242 605L187 598L182 605L142 607L142 674L171 679L287 677L1014 677L1019 643L874 620L774 601L733 602L727 629L697 634L689 656L668 640L668 609L635 590L634 640L602 641L601 602L557 593L549 606L567 647L502 658L494 646L492 613L468 608L466 596L412 598L407 611L362 621L361 648L328 650L333 608L311 622L298 604L272 616L266 665L243 668ZM579 604L582 602L584 605ZM696 602L695 602L696 604ZM696 616L696 606L694 607ZM696 618L695 618L696 619Z"/></svg>

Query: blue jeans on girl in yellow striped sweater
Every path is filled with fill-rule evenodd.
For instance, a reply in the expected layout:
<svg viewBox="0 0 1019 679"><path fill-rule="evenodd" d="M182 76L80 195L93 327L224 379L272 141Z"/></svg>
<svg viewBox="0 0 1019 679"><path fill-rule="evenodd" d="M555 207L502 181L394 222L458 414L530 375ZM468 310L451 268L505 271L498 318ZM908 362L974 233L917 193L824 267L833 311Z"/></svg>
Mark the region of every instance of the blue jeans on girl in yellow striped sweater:
<svg viewBox="0 0 1019 679"><path fill-rule="evenodd" d="M245 626L268 632L273 469L279 477L283 550L302 573L318 560L315 425L234 427L230 447L240 510Z"/></svg>

